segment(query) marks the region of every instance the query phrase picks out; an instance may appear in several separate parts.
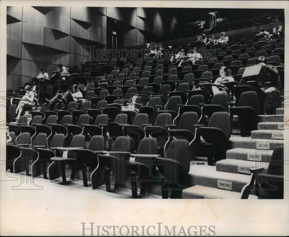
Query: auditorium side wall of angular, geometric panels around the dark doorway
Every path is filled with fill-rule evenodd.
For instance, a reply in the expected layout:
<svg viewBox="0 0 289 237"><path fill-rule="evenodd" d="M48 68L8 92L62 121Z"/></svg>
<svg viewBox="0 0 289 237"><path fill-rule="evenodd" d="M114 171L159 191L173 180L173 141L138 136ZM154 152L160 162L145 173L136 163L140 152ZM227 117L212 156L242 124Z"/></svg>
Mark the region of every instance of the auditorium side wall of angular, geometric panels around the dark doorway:
<svg viewBox="0 0 289 237"><path fill-rule="evenodd" d="M123 22L124 46L149 43L177 23L173 9L8 6L7 89L31 82L41 68L50 76L59 63L79 66L81 46L106 48L107 17Z"/></svg>

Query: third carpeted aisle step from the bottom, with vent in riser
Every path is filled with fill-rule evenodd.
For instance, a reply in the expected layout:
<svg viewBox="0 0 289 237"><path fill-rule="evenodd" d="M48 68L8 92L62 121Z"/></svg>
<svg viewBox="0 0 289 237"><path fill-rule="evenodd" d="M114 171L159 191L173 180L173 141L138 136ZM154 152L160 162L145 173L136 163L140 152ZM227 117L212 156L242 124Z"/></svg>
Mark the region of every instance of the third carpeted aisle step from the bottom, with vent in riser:
<svg viewBox="0 0 289 237"><path fill-rule="evenodd" d="M268 169L268 165L269 163L266 162L225 159L216 162L216 171L250 175L251 168L259 167L264 168L266 171Z"/></svg>

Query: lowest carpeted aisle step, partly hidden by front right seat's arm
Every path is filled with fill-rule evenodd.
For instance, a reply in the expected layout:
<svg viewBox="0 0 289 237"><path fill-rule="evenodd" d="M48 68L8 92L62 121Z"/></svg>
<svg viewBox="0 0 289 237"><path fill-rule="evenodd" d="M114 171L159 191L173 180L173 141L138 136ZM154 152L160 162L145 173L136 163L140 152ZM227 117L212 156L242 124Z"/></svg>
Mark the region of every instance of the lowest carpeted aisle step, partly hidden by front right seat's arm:
<svg viewBox="0 0 289 237"><path fill-rule="evenodd" d="M241 193L224 189L214 189L211 187L196 185L183 190L183 198L200 199L241 199ZM255 195L249 195L248 199L258 199Z"/></svg>

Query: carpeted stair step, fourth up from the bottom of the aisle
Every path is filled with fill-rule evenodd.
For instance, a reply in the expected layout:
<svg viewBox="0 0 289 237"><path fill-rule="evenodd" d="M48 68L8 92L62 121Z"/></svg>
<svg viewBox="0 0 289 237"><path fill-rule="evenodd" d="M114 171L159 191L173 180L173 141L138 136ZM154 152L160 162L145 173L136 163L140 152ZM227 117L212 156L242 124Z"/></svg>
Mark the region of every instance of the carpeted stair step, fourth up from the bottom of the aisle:
<svg viewBox="0 0 289 237"><path fill-rule="evenodd" d="M270 162L273 150L254 150L248 148L234 148L227 150L226 158L253 162Z"/></svg>

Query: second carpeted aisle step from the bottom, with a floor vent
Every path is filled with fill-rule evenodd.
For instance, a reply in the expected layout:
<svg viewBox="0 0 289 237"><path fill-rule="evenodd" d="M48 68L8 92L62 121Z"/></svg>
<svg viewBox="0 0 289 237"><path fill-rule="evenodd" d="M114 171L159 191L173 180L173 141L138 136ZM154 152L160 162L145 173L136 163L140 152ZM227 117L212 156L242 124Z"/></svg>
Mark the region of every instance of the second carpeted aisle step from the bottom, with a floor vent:
<svg viewBox="0 0 289 237"><path fill-rule="evenodd" d="M215 166L190 165L190 171L186 178L187 187L202 185L211 188L223 187L234 192L241 192L244 185L250 180L250 176L216 171Z"/></svg>

